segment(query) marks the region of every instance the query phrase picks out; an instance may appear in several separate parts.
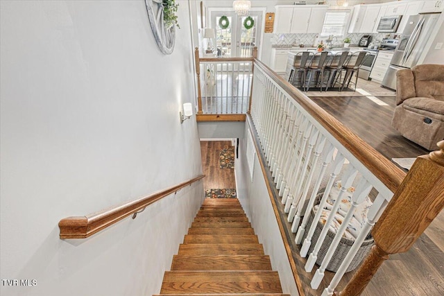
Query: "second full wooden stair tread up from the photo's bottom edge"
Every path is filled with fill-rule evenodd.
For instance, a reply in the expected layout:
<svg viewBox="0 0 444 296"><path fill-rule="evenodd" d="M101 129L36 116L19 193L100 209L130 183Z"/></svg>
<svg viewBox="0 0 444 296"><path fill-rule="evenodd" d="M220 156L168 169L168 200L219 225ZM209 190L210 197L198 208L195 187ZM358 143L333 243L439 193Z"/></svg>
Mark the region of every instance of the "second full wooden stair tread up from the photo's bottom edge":
<svg viewBox="0 0 444 296"><path fill-rule="evenodd" d="M175 255L171 270L271 270L268 255Z"/></svg>

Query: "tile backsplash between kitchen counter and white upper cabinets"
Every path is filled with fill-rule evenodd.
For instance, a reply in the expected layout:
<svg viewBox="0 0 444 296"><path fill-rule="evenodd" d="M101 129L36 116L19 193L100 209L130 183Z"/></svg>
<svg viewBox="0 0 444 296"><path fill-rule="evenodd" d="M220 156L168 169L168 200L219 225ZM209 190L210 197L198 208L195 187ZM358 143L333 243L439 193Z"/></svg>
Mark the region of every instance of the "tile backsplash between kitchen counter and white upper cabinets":
<svg viewBox="0 0 444 296"><path fill-rule="evenodd" d="M312 46L316 44L316 39L321 39L318 37L319 34L280 34L280 33L273 33L273 36L271 37L271 44L273 45L299 45L304 44L305 46ZM361 40L361 37L364 35L372 35L373 42L381 41L383 38L386 37L387 34L377 33L377 34L363 34L363 33L349 33L345 35L345 37L350 37L352 40L351 44L358 44L359 40ZM342 46L343 40L345 37L339 39L336 41L334 39L333 44L337 46ZM324 43L325 39L323 40Z"/></svg>

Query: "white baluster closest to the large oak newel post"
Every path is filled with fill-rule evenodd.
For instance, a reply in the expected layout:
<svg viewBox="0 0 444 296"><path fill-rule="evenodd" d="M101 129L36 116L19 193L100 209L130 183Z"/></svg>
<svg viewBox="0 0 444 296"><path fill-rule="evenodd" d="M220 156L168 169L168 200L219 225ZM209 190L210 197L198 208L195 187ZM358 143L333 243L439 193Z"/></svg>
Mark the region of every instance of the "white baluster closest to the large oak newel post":
<svg viewBox="0 0 444 296"><path fill-rule="evenodd" d="M370 229L372 229L373 225L377 223L377 220L379 220L379 218L381 217L384 209L386 209L388 199L384 198L384 196L382 196L381 194L377 195L372 207L370 207L370 209L368 210L366 224L364 225L364 227L362 227L361 232L356 238L355 243L352 245L352 247L350 247L347 256L345 256L344 261L342 262L341 266L339 266L339 269L338 271L336 271L336 274L334 275L332 281L330 281L330 285L324 289L322 296L333 295L334 289L338 286L339 281L341 281L353 258L355 258L355 255L359 251L359 247L361 247L362 242L364 242L364 240L368 236Z"/></svg>

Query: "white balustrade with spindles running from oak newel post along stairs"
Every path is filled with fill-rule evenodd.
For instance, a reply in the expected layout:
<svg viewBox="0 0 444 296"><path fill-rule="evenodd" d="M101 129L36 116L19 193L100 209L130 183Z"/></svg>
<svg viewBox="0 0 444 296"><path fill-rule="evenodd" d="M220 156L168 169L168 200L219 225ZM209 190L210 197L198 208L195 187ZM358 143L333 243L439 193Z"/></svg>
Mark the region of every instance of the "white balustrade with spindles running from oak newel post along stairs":
<svg viewBox="0 0 444 296"><path fill-rule="evenodd" d="M302 92L287 87L287 82L277 78L273 71L260 62L254 64L253 82L251 116L276 189L282 198L281 202L285 204L284 212L288 213L287 220L291 223L291 231L296 233L296 243L302 243L300 256L308 256L305 265L307 272L311 272L318 261L318 254L327 232L333 226L334 214L338 211L341 200L345 195L351 196L350 209L346 211L341 227L336 229L336 236L330 247L323 250L325 256L311 280L311 288L316 289L321 284L348 222L371 191L373 204L362 223L361 232L355 238L330 286L325 287L323 295L332 295L396 188L390 184L387 186L386 183L390 182L383 182L381 175L375 173L379 168L374 168L370 162L377 157L357 155L356 149L350 148L364 142L347 143L344 138L349 135L352 139L359 138L309 101ZM336 125L339 128L335 130ZM370 158L370 162L364 159L365 157ZM389 168L386 169L389 171ZM396 176L393 179L396 179ZM335 182L339 180L341 189L333 191ZM350 193L350 187L355 187L356 190ZM318 200L322 192L322 198ZM316 243L312 242L317 221L321 217L321 209L329 197L335 200L331 206L331 214ZM311 209L316 204L319 210L313 218L314 222L309 226L307 223Z"/></svg>

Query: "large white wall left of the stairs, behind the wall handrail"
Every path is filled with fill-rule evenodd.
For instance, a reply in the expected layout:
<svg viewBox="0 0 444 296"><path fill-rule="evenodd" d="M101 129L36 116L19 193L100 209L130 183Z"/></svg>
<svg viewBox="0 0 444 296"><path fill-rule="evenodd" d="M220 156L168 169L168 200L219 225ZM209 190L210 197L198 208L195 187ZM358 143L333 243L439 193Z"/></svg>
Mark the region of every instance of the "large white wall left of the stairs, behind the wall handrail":
<svg viewBox="0 0 444 296"><path fill-rule="evenodd" d="M202 182L91 238L58 221L202 173L191 30L180 1L163 55L144 1L0 1L1 295L158 293L203 199Z"/></svg>

